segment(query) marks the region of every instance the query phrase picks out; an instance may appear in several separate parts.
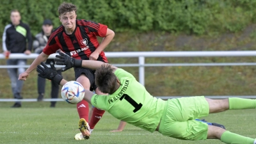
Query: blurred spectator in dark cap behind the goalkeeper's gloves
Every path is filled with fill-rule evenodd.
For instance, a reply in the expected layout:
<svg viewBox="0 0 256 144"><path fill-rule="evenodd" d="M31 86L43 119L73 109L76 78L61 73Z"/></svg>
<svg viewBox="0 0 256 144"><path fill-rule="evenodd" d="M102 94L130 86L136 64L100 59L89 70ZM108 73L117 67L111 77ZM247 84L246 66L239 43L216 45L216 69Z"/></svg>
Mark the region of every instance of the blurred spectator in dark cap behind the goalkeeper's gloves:
<svg viewBox="0 0 256 144"><path fill-rule="evenodd" d="M46 46L48 39L52 33L52 28L53 28L52 21L49 19L45 19L43 22L42 31L35 36L35 40L33 42L33 48L37 54L40 54L43 51L44 47ZM45 61L45 64L49 65L51 61L54 63L53 59L47 59ZM60 68L57 70L57 72L58 74L61 75ZM44 78L38 76L37 88L38 88L37 100L42 101L44 99L44 93L45 93ZM51 98L52 99L58 98L58 93L59 93L59 84L54 81L51 81ZM55 104L56 104L55 101L54 102L51 101L51 107L55 107Z"/></svg>

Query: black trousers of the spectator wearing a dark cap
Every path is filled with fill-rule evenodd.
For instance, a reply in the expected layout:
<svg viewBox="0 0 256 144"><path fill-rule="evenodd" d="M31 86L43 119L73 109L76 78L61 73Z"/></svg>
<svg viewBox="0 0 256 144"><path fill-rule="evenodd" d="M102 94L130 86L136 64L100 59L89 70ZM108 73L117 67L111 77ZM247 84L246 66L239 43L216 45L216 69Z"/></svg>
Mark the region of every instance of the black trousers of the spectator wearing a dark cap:
<svg viewBox="0 0 256 144"><path fill-rule="evenodd" d="M57 70L57 73L61 75L61 70ZM45 80L42 77L38 76L37 79L37 88L38 88L38 94L42 94L45 93ZM57 99L58 98L58 94L59 94L59 84L51 81L51 98L52 99ZM51 101L51 105L55 105L56 101Z"/></svg>

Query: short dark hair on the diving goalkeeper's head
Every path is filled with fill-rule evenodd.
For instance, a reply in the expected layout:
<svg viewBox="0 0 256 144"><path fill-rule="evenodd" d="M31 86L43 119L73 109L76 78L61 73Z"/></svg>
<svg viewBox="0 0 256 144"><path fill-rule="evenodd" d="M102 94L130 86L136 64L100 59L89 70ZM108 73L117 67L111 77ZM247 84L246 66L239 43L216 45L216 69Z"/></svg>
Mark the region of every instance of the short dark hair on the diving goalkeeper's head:
<svg viewBox="0 0 256 144"><path fill-rule="evenodd" d="M103 64L100 68L97 68L95 72L95 84L102 93L112 94L115 92L118 86L117 77L113 73L111 65Z"/></svg>

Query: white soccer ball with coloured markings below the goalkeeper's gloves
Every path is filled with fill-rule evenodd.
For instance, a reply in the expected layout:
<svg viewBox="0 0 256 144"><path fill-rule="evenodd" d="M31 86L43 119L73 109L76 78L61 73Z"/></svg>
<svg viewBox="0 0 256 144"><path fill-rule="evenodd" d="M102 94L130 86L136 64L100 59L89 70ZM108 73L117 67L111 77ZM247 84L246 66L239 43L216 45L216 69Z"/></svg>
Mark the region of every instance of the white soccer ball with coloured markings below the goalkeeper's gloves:
<svg viewBox="0 0 256 144"><path fill-rule="evenodd" d="M69 104L77 104L84 99L84 87L77 81L68 81L61 88L61 97Z"/></svg>

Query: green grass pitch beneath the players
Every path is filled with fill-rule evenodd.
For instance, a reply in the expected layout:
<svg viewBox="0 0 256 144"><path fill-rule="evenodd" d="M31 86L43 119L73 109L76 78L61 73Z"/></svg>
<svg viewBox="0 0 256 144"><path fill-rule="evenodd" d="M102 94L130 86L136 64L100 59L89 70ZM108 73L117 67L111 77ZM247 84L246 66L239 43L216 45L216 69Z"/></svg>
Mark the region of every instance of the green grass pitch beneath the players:
<svg viewBox="0 0 256 144"><path fill-rule="evenodd" d="M75 134L79 132L76 105L57 102L56 108L49 108L49 102L22 102L22 108L10 108L12 104L0 102L0 143L222 143L218 140L176 140L129 124L123 132L109 132L118 127L119 120L107 112L89 140L77 141L74 140ZM255 109L211 114L206 120L223 124L237 134L256 138Z"/></svg>

